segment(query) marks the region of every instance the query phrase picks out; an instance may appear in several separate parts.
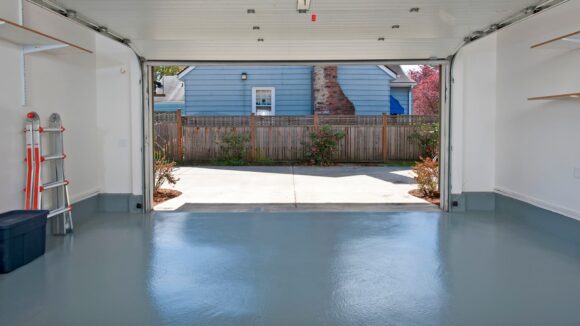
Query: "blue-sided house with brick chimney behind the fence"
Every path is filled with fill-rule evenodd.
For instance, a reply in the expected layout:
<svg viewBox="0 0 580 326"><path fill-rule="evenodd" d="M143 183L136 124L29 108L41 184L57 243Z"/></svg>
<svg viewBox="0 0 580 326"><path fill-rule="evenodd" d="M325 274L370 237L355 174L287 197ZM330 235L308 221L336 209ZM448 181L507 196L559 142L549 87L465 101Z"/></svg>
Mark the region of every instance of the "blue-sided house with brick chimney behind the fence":
<svg viewBox="0 0 580 326"><path fill-rule="evenodd" d="M377 65L192 66L177 77L184 115L409 114L414 86Z"/></svg>

